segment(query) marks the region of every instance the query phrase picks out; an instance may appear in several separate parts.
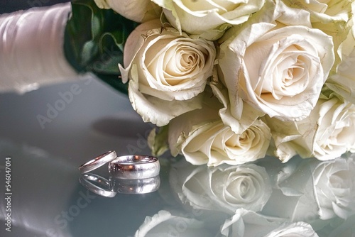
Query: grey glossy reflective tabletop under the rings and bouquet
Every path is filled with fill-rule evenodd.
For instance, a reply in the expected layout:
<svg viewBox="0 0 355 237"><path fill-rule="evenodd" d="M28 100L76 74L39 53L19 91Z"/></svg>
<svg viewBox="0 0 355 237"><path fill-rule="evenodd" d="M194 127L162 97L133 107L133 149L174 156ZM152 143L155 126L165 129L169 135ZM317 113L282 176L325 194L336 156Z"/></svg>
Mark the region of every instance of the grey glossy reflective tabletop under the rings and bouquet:
<svg viewBox="0 0 355 237"><path fill-rule="evenodd" d="M0 236L267 236L280 226L312 236L308 224L354 236L352 155L218 167L165 155L158 177L119 180L106 164L78 167L109 150L150 155L154 126L107 84L86 76L0 94L0 111Z"/></svg>

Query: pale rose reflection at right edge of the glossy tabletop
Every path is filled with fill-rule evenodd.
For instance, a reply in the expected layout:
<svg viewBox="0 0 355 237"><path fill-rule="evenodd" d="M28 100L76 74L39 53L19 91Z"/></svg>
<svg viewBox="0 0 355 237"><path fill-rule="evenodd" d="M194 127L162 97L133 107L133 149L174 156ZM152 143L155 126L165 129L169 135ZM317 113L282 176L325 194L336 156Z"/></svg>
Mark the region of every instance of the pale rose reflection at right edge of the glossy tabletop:
<svg viewBox="0 0 355 237"><path fill-rule="evenodd" d="M266 164L266 170L272 169ZM354 171L353 155L323 162L295 158L269 173L275 186L262 213L311 224L337 216L346 219L355 214Z"/></svg>

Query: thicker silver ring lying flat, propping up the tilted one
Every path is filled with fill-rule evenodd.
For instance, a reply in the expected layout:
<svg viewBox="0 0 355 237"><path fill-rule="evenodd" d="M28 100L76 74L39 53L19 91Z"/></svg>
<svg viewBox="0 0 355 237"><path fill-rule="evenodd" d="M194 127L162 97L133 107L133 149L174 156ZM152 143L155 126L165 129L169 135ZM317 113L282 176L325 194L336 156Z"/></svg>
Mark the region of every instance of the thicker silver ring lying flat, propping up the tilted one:
<svg viewBox="0 0 355 237"><path fill-rule="evenodd" d="M158 158L148 155L123 155L109 162L109 172L117 179L147 179L159 175Z"/></svg>

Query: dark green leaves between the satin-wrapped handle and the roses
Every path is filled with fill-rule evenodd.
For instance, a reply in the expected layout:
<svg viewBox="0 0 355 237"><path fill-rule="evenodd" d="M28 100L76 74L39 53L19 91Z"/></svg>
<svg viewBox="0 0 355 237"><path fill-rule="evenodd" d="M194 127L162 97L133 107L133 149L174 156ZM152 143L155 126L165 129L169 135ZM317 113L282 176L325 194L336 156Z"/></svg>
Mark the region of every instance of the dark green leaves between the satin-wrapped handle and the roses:
<svg viewBox="0 0 355 237"><path fill-rule="evenodd" d="M99 9L93 0L74 0L65 28L65 56L77 72L93 72L127 93L118 64L123 65L124 44L136 26L111 9Z"/></svg>

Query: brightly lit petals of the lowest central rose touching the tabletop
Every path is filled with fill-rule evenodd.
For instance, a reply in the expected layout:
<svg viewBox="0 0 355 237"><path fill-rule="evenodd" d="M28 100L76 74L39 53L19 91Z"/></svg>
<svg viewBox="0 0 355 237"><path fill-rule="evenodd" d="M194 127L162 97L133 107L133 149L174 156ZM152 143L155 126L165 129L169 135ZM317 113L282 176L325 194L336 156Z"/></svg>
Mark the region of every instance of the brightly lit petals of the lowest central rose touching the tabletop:
<svg viewBox="0 0 355 237"><path fill-rule="evenodd" d="M222 121L198 124L180 137L181 152L193 165L240 165L264 158L271 133L265 123L256 120L241 134L234 133Z"/></svg>

